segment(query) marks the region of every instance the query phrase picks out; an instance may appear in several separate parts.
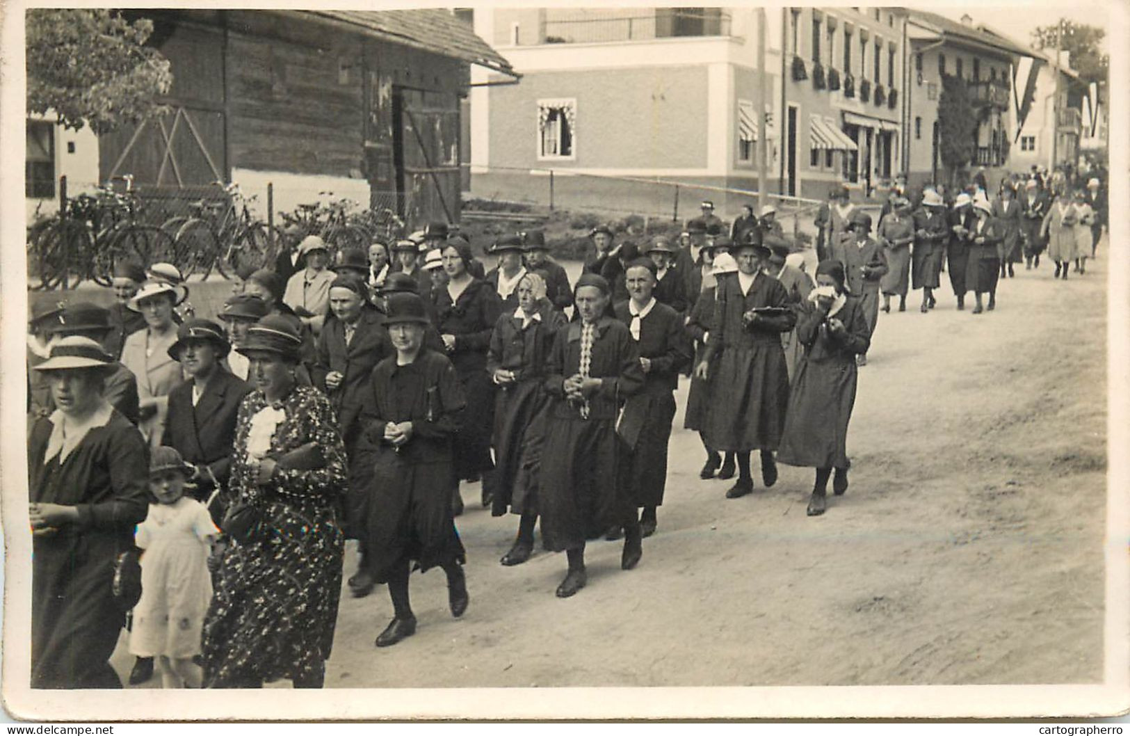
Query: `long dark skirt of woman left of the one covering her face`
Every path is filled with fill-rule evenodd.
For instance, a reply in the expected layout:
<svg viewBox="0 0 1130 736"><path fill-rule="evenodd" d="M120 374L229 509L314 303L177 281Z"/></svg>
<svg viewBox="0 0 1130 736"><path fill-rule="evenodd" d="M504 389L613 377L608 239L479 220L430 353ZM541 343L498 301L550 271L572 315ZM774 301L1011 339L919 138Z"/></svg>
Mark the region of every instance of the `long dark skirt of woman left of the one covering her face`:
<svg viewBox="0 0 1130 736"><path fill-rule="evenodd" d="M706 442L727 452L775 450L789 405L789 370L780 338L749 348L727 347L714 363Z"/></svg>

